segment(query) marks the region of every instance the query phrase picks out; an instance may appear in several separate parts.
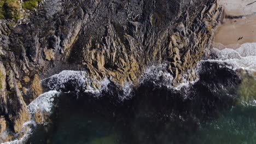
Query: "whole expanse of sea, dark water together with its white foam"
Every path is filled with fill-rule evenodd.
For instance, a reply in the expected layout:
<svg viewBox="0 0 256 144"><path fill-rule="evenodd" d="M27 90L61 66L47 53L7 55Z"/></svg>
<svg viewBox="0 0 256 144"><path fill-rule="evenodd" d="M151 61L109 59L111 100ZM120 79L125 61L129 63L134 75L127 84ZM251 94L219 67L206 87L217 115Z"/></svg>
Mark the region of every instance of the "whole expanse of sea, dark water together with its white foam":
<svg viewBox="0 0 256 144"><path fill-rule="evenodd" d="M165 64L149 67L138 89L126 83L122 92L107 79L97 91L86 89L85 72L62 71L28 106L31 115L47 111L49 122L31 119L19 142L256 143L256 43L209 53L194 69L199 79L178 87Z"/></svg>

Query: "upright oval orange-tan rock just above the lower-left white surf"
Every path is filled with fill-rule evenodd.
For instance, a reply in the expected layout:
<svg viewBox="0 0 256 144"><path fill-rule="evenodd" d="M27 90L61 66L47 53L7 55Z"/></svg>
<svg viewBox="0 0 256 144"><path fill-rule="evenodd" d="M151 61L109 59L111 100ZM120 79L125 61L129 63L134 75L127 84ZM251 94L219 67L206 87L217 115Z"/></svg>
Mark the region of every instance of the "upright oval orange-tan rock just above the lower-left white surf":
<svg viewBox="0 0 256 144"><path fill-rule="evenodd" d="M33 98L37 98L38 95L43 93L43 88L40 84L40 78L37 74L34 75L34 79L30 85L30 90L33 94Z"/></svg>

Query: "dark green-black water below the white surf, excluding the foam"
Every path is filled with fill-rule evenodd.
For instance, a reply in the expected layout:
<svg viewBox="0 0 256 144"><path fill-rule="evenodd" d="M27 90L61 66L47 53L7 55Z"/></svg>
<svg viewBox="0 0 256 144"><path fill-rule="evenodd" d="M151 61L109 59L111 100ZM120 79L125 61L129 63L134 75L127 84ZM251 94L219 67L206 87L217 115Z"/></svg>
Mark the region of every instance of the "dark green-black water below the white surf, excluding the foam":
<svg viewBox="0 0 256 144"><path fill-rule="evenodd" d="M256 81L226 74L202 73L181 91L148 83L122 102L107 94L62 94L52 122L27 143L256 143L256 106L248 104Z"/></svg>

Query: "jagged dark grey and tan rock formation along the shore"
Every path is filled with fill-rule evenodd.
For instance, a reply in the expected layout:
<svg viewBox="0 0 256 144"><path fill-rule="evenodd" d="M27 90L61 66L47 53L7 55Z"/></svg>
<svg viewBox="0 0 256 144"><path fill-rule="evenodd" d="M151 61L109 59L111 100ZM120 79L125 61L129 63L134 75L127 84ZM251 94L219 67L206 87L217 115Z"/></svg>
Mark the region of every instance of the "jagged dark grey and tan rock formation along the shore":
<svg viewBox="0 0 256 144"><path fill-rule="evenodd" d="M1 20L0 133L19 133L40 79L67 68L136 87L144 68L166 62L173 86L194 80L220 16L216 0L46 0L19 25Z"/></svg>

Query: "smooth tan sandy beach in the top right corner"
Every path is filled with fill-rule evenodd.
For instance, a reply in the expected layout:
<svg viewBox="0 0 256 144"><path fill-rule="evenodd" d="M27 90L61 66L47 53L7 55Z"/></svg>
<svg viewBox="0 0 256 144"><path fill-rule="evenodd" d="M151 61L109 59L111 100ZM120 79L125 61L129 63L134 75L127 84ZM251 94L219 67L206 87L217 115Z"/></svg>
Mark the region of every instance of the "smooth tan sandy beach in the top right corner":
<svg viewBox="0 0 256 144"><path fill-rule="evenodd" d="M214 32L213 47L236 49L244 43L256 42L256 1L223 0L225 15L241 16L241 19L224 19Z"/></svg>

